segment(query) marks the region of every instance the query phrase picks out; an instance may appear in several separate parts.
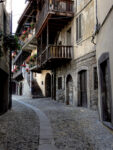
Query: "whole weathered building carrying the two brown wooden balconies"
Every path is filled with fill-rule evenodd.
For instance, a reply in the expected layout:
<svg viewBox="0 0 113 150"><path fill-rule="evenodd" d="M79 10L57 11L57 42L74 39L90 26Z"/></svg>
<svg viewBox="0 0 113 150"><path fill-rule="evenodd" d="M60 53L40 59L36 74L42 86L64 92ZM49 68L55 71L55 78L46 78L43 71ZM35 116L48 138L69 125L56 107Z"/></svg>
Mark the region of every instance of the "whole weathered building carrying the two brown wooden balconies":
<svg viewBox="0 0 113 150"><path fill-rule="evenodd" d="M31 5L32 2L29 1ZM30 69L30 81L37 81L43 96L96 110L98 78L96 47L92 42L96 25L95 1L35 2L35 35L22 48L33 51L33 39L37 41L37 64ZM21 22L26 23L24 14L28 10L20 18L19 30L23 26Z"/></svg>

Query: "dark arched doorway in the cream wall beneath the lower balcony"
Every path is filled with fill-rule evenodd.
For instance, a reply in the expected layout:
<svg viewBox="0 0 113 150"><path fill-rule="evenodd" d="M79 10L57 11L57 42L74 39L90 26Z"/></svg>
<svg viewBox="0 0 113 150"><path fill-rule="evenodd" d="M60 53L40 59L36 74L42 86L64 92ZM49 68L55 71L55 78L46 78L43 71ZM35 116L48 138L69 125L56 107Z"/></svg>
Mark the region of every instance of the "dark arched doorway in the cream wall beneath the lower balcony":
<svg viewBox="0 0 113 150"><path fill-rule="evenodd" d="M45 94L46 97L51 97L51 75L47 73L45 78Z"/></svg>

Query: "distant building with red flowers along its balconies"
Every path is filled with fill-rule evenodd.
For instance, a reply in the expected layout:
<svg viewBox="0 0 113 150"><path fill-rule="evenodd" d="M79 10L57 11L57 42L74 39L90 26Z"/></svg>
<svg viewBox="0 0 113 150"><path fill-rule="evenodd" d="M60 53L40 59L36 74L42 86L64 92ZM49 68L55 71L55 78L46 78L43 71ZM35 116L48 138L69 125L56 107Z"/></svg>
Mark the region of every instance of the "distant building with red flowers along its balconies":
<svg viewBox="0 0 113 150"><path fill-rule="evenodd" d="M37 41L35 36L36 20L32 19L36 18L37 11L34 9L34 6L37 6L36 0L29 1L18 21L16 33L20 33L19 39L22 44L22 49L16 52L13 57L12 71L15 70L15 67L19 69L13 72L12 88L13 94L36 98L47 96L46 75L51 75L51 71L46 69L41 72L37 71L37 61L36 58L34 58L34 56L37 55ZM29 19L29 15L31 20ZM26 27L26 24L28 24L28 27ZM34 26L33 28L30 26L31 24ZM31 28L29 32L28 28ZM28 34L23 39L23 32L25 31L27 31ZM32 61L32 58L34 61ZM26 71L26 69L28 69L28 71ZM49 91L51 91L50 88Z"/></svg>

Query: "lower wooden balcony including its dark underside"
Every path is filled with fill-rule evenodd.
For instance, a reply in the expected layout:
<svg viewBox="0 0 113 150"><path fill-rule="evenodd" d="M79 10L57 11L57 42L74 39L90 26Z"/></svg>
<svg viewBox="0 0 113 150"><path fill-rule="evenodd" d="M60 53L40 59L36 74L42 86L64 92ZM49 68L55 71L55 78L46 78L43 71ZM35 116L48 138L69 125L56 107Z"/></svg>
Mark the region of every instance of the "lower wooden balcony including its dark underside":
<svg viewBox="0 0 113 150"><path fill-rule="evenodd" d="M52 69L73 58L72 46L48 46L37 58L38 70Z"/></svg>

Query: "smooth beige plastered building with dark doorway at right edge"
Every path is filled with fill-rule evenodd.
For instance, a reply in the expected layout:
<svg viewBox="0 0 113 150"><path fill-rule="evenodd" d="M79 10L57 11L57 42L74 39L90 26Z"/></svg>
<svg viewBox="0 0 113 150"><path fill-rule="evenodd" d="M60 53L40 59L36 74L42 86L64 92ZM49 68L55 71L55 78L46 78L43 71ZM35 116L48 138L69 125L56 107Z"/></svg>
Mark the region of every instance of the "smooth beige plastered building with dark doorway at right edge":
<svg viewBox="0 0 113 150"><path fill-rule="evenodd" d="M98 0L96 16L99 114L101 121L113 129L113 1Z"/></svg>

